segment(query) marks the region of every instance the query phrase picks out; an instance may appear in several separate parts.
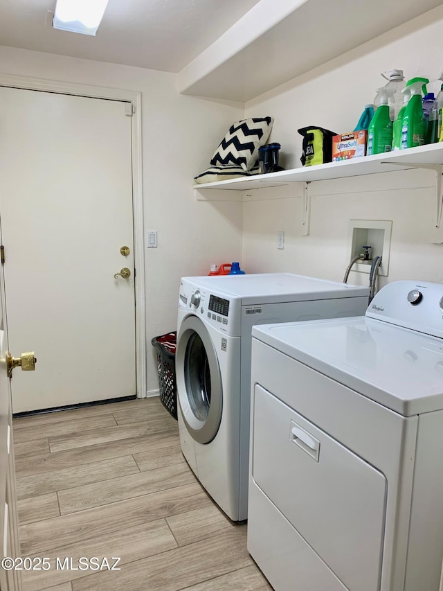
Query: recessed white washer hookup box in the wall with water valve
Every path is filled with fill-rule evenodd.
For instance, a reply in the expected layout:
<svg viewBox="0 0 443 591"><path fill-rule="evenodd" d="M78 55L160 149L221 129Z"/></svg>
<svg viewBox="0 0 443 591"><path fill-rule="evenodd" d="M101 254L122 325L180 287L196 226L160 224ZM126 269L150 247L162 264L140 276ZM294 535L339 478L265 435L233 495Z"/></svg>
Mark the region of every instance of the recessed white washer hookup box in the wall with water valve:
<svg viewBox="0 0 443 591"><path fill-rule="evenodd" d="M392 232L392 221L390 220L350 220L350 249L349 261L354 256L365 252L363 246L370 246L369 261L357 261L352 267L352 271L360 273L370 273L372 261L376 256L381 256L381 265L378 270L379 275L385 277L389 272L389 253L390 253L390 235Z"/></svg>

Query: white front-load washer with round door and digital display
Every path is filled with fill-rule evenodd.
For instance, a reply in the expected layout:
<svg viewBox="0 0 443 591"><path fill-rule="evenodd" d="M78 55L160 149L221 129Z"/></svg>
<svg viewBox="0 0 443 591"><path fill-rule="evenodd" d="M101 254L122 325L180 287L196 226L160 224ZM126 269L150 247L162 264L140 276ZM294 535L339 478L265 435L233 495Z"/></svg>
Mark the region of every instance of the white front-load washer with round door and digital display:
<svg viewBox="0 0 443 591"><path fill-rule="evenodd" d="M230 519L247 517L252 326L358 316L367 303L367 288L288 273L181 279L181 449Z"/></svg>

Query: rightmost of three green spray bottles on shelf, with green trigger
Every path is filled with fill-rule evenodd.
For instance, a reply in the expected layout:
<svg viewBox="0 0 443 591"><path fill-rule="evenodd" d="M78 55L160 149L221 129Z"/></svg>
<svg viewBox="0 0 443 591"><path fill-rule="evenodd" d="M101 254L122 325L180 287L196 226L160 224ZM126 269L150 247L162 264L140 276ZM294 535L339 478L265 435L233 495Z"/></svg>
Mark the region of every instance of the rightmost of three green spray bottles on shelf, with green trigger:
<svg viewBox="0 0 443 591"><path fill-rule="evenodd" d="M428 124L423 112L422 87L428 82L428 78L412 78L406 84L410 90L410 99L401 123L401 150L425 143Z"/></svg>

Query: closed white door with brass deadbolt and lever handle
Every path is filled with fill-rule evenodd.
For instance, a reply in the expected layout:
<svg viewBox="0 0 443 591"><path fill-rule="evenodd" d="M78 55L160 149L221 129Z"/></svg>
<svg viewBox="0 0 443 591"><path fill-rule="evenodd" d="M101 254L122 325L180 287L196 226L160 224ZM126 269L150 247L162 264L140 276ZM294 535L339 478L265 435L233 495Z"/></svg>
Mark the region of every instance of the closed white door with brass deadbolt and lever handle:
<svg viewBox="0 0 443 591"><path fill-rule="evenodd" d="M10 349L39 360L13 411L136 394L128 105L1 87L0 106Z"/></svg>

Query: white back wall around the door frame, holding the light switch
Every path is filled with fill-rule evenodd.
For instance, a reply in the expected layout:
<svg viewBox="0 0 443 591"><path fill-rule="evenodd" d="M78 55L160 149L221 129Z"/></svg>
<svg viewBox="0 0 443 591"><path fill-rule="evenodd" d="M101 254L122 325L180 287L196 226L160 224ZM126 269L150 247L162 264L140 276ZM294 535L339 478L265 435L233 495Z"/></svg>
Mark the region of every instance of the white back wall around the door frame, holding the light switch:
<svg viewBox="0 0 443 591"><path fill-rule="evenodd" d="M210 263L239 259L242 207L197 202L192 177L208 159L243 105L181 96L176 76L153 70L66 58L0 46L5 74L141 91L145 229L159 247L145 249L147 390L158 389L152 337L177 326L179 279L207 274Z"/></svg>

